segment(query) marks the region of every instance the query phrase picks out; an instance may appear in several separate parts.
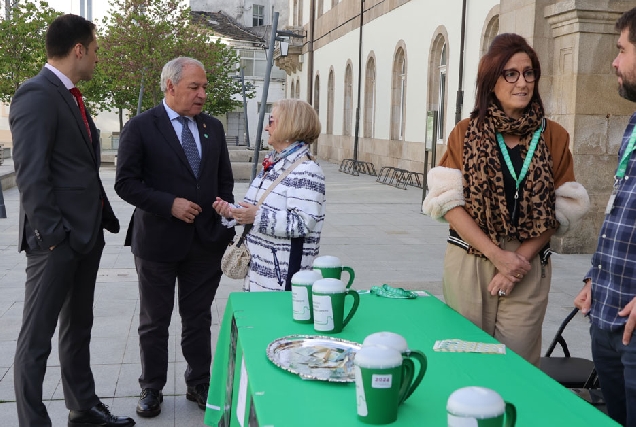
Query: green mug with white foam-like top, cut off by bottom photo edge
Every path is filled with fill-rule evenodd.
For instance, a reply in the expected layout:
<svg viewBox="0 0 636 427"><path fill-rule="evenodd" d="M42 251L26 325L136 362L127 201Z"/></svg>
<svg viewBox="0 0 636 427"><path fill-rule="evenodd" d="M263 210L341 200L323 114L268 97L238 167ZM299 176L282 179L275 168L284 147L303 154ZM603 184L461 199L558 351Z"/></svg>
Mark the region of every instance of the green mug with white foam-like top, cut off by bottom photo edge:
<svg viewBox="0 0 636 427"><path fill-rule="evenodd" d="M514 427L515 405L485 387L464 387L455 390L446 404L448 427Z"/></svg>

